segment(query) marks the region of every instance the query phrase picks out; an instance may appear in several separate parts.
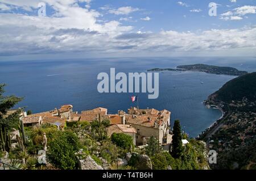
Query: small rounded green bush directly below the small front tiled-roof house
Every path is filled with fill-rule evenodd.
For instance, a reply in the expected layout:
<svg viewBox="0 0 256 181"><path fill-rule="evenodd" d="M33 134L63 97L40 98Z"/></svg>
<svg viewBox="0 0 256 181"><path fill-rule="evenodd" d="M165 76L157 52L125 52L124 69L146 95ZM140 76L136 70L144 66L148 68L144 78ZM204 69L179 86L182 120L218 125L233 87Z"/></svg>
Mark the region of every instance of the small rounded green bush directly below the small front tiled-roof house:
<svg viewBox="0 0 256 181"><path fill-rule="evenodd" d="M130 149L133 147L133 138L124 133L113 133L111 141L123 149Z"/></svg>

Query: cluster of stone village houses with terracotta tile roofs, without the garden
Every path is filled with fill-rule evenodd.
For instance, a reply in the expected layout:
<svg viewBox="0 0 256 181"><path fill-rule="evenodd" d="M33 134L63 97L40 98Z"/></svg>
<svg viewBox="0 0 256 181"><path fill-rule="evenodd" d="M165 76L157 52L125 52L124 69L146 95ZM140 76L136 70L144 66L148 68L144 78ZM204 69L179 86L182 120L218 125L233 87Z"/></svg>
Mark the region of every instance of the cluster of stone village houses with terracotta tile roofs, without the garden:
<svg viewBox="0 0 256 181"><path fill-rule="evenodd" d="M64 105L59 109L27 115L22 113L21 119L25 127L38 126L45 123L53 124L58 129L64 129L66 123L88 122L94 120L109 120L108 135L125 133L133 138L134 145L146 145L148 138L156 137L163 146L168 146L172 141L170 134L171 112L151 109L138 109L131 107L128 112L118 111L117 114L108 114L107 108L94 108L93 110L73 111L72 105Z"/></svg>

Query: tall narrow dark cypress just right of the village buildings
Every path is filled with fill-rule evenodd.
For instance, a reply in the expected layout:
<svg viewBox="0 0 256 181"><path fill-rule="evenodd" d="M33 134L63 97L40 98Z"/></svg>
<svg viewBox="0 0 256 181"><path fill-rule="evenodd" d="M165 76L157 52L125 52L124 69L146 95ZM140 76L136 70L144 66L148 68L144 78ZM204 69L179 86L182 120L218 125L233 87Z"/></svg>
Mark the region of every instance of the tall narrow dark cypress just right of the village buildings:
<svg viewBox="0 0 256 181"><path fill-rule="evenodd" d="M183 146L182 146L182 134L181 134L181 128L180 128L180 121L175 120L174 122L174 136L172 136L172 157L179 158L183 152Z"/></svg>

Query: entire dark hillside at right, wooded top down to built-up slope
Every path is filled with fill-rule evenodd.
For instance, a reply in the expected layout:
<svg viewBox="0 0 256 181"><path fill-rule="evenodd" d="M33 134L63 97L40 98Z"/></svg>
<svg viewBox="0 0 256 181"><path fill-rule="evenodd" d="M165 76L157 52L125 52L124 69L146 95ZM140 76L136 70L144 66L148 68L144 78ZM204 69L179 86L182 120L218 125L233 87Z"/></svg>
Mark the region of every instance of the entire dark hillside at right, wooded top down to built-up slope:
<svg viewBox="0 0 256 181"><path fill-rule="evenodd" d="M256 168L256 73L250 73L227 82L209 96L225 112L224 119L205 131L209 149L216 150L217 164L212 169Z"/></svg>

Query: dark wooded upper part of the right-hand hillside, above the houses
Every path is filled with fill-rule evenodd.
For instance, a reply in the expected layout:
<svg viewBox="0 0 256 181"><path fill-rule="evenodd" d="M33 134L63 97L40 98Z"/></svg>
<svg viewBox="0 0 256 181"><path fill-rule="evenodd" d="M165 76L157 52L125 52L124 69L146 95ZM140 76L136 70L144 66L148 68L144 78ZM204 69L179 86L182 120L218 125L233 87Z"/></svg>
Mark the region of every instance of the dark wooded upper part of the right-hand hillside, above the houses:
<svg viewBox="0 0 256 181"><path fill-rule="evenodd" d="M227 103L242 100L244 97L251 101L256 100L256 72L232 79L212 96Z"/></svg>

